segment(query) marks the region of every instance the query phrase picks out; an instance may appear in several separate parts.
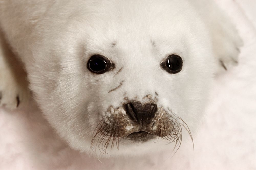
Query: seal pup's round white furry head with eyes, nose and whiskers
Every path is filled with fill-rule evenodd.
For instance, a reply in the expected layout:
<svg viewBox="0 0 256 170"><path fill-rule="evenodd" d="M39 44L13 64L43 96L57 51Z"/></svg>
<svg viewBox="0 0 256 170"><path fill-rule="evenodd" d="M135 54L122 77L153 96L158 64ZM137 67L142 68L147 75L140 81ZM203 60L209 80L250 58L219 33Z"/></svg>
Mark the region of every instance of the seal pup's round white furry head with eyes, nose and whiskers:
<svg viewBox="0 0 256 170"><path fill-rule="evenodd" d="M194 132L212 81L209 36L188 4L163 2L81 4L51 23L41 50L51 57L29 77L73 148L143 153Z"/></svg>

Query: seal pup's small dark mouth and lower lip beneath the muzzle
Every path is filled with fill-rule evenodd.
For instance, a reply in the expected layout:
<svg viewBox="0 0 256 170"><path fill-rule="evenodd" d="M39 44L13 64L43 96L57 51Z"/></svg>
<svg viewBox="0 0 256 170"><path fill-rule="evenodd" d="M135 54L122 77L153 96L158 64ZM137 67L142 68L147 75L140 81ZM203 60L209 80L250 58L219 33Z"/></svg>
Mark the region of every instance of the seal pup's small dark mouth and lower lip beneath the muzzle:
<svg viewBox="0 0 256 170"><path fill-rule="evenodd" d="M157 136L150 134L145 131L133 132L130 135L126 136L125 138L135 142L147 142L151 139L155 139Z"/></svg>

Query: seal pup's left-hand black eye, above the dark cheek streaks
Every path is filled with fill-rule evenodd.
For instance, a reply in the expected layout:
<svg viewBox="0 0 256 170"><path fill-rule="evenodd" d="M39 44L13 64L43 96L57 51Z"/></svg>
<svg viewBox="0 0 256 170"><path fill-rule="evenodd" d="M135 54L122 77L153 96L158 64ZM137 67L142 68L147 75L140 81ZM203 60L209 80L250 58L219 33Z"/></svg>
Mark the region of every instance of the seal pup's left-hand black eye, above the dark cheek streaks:
<svg viewBox="0 0 256 170"><path fill-rule="evenodd" d="M103 74L109 70L111 62L103 55L93 55L87 63L87 68L93 73Z"/></svg>

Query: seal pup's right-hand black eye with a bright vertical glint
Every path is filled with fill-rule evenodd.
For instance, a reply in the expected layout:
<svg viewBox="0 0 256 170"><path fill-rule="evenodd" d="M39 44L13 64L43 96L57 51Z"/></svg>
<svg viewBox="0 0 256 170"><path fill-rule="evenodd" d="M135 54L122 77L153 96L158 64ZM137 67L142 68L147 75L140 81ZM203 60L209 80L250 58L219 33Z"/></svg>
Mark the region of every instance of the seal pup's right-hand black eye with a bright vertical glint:
<svg viewBox="0 0 256 170"><path fill-rule="evenodd" d="M182 69L182 59L179 55L169 55L166 61L161 63L161 67L171 74L176 74L181 71Z"/></svg>

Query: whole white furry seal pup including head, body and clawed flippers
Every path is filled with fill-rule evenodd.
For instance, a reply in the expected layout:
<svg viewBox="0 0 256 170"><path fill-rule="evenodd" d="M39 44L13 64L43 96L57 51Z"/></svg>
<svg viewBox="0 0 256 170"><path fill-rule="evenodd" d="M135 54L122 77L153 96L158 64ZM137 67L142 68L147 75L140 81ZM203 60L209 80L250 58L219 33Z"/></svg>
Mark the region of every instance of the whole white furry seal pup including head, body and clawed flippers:
<svg viewBox="0 0 256 170"><path fill-rule="evenodd" d="M177 148L241 45L209 0L0 0L0 28L1 106L26 100L15 54L49 123L97 154Z"/></svg>

